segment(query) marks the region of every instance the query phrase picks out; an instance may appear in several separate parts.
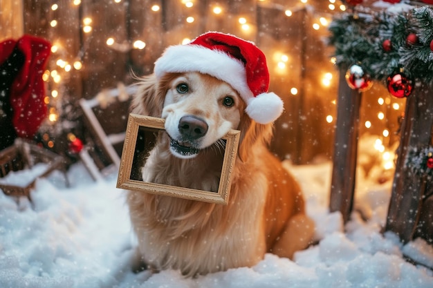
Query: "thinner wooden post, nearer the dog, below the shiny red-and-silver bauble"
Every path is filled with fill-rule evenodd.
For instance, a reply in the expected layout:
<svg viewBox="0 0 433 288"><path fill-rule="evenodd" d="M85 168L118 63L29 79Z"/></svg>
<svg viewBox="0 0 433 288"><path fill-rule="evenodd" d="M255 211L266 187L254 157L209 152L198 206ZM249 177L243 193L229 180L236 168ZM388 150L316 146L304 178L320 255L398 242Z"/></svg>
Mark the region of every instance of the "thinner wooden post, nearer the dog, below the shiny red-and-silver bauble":
<svg viewBox="0 0 433 288"><path fill-rule="evenodd" d="M333 153L331 181L331 212L340 211L344 222L350 218L356 178L356 153L358 151L359 111L361 96L345 80L345 68L340 68L337 99L337 126Z"/></svg>

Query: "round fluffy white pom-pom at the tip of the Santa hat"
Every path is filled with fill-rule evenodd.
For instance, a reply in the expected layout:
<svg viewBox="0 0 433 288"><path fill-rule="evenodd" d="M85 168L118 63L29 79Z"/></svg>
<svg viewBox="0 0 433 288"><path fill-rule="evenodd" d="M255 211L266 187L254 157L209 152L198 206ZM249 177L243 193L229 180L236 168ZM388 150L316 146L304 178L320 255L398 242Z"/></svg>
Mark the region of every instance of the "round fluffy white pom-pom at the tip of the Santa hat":
<svg viewBox="0 0 433 288"><path fill-rule="evenodd" d="M261 93L250 98L245 109L246 113L260 124L274 122L283 113L283 110L282 99L273 92Z"/></svg>

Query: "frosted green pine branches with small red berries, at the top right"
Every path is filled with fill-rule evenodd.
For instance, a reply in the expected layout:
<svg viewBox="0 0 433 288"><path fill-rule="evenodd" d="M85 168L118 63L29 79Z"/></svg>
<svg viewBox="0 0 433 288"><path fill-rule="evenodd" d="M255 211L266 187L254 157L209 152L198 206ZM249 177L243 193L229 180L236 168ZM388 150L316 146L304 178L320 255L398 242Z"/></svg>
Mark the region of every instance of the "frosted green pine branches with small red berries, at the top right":
<svg viewBox="0 0 433 288"><path fill-rule="evenodd" d="M404 68L409 79L429 83L433 79L433 9L414 8L394 14L387 11L347 12L329 27L329 44L335 46L336 64L349 67L360 64L371 79L385 81ZM407 35L414 33L418 43L407 44ZM391 41L391 50L383 42Z"/></svg>

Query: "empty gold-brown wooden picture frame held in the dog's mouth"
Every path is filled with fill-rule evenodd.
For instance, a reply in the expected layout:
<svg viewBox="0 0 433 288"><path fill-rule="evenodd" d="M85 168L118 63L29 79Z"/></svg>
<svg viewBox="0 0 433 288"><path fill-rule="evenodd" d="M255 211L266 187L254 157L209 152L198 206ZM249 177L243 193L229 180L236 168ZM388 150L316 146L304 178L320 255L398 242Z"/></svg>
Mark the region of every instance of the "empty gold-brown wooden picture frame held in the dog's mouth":
<svg viewBox="0 0 433 288"><path fill-rule="evenodd" d="M143 182L133 179L133 162L136 153L136 145L140 137L139 131L155 133L155 131L165 131L165 120L143 115L129 114L127 133L123 146L120 169L118 174L117 188L131 191L140 191L159 195L167 195L189 200L212 202L216 204L227 204L230 195L231 173L237 157L237 147L239 145L240 131L231 130L222 139L225 140L225 150L219 188L217 192L190 189L167 184ZM146 138L147 136L145 136ZM153 148L152 141L145 140L145 149L148 151ZM154 142L155 143L155 142Z"/></svg>

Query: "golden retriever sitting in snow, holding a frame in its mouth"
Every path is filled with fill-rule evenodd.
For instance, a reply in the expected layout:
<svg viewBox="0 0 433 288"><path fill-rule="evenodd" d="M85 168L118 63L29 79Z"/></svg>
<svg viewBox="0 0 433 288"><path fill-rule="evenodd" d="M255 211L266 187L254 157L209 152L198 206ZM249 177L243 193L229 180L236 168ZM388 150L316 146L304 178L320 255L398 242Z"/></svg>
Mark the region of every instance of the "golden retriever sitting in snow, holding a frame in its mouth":
<svg viewBox="0 0 433 288"><path fill-rule="evenodd" d="M314 224L297 182L268 151L273 123L248 115L236 83L194 71L201 68L185 70L140 79L131 112L165 119L165 133L149 153L142 178L217 191L221 137L237 129L241 137L230 198L223 205L129 191L142 260L151 269L196 276L251 267L265 253L292 258L311 243Z"/></svg>

